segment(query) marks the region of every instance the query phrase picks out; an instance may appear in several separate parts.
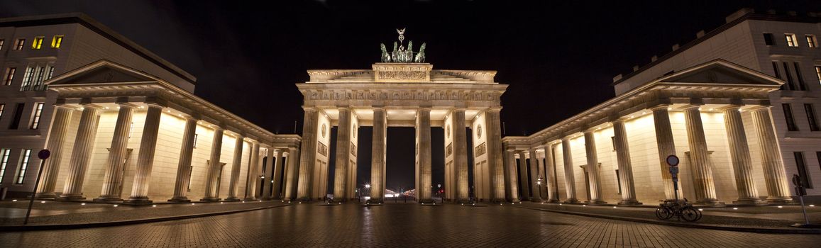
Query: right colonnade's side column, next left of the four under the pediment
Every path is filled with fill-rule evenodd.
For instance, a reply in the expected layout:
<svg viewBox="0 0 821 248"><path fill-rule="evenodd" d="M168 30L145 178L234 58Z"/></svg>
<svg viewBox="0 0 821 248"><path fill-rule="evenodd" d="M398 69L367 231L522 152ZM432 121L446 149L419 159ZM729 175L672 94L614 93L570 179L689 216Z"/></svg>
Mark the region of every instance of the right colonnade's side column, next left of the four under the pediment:
<svg viewBox="0 0 821 248"><path fill-rule="evenodd" d="M630 160L630 145L627 143L627 131L624 128L624 119L613 121L613 136L616 140L616 160L618 163L618 178L621 182L621 201L619 205L640 205L635 199L635 183L633 179L633 165ZM664 173L664 171L662 172Z"/></svg>

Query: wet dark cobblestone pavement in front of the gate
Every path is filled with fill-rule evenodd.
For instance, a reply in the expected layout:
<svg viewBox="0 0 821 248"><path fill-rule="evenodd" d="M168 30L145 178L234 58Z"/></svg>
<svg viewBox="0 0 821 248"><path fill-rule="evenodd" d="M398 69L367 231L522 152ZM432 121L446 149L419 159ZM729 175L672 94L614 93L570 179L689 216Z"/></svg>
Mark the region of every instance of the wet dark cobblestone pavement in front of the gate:
<svg viewBox="0 0 821 248"><path fill-rule="evenodd" d="M4 247L812 247L759 234L595 219L511 206L315 204L112 228L0 233Z"/></svg>

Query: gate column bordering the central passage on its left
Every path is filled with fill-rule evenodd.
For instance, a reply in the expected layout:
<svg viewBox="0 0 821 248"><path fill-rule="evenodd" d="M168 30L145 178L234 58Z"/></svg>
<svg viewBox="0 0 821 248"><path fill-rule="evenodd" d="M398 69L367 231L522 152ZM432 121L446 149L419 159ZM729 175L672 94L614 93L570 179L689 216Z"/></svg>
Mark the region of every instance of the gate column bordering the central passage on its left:
<svg viewBox="0 0 821 248"><path fill-rule="evenodd" d="M374 108L374 137L371 145L370 201L382 202L385 196L385 142L388 116L384 108Z"/></svg>

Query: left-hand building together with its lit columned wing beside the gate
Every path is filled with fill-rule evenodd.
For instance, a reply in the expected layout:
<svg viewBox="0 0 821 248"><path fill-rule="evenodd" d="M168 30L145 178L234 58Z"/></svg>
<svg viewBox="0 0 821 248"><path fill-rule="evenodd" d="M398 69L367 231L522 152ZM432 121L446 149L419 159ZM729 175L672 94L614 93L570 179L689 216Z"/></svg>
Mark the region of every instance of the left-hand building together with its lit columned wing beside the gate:
<svg viewBox="0 0 821 248"><path fill-rule="evenodd" d="M196 97L193 76L88 16L2 19L0 40L15 44L0 47L9 197L30 196L43 148L52 156L41 199L273 199L294 178L283 160L298 153L299 136Z"/></svg>

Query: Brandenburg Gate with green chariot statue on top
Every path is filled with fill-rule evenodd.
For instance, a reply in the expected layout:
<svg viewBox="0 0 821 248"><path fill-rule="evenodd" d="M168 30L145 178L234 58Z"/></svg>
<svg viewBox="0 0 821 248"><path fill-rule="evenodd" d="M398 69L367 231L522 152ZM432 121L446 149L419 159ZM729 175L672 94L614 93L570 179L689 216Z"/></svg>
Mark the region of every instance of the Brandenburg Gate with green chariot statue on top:
<svg viewBox="0 0 821 248"><path fill-rule="evenodd" d="M328 187L330 152L336 152L333 195L337 201L355 197L356 147L372 142L370 201L383 201L388 127L415 127L415 188L420 203L431 200L431 128L445 132L445 188L447 199L467 201L468 150L474 149L475 198L505 201L506 183L515 183L502 162L499 98L507 84L496 83L493 70L433 70L424 63L423 43L414 52L382 45L382 62L370 70L308 70L310 81L296 83L304 98L302 149L296 196L321 199ZM330 129L337 126L336 151L328 151ZM360 141L360 127L372 126L373 139ZM472 137L467 137L470 128ZM473 147L467 147L467 139ZM516 171L516 170L512 170ZM507 187L510 188L510 187Z"/></svg>

